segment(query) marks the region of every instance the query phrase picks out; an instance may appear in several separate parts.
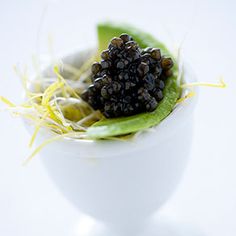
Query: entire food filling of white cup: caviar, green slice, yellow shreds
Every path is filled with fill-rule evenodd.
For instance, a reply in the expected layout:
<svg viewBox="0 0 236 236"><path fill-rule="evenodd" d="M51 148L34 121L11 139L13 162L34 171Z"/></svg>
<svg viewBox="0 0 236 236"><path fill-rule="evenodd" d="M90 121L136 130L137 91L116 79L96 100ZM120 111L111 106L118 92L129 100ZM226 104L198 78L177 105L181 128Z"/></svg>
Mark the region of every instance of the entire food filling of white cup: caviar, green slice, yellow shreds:
<svg viewBox="0 0 236 236"><path fill-rule="evenodd" d="M193 95L182 89L181 63L150 34L113 23L97 30L98 49L89 60L56 63L53 73L34 80L22 74L27 99L20 109L2 98L34 125L30 146L41 128L55 134L30 157L62 137L130 139Z"/></svg>

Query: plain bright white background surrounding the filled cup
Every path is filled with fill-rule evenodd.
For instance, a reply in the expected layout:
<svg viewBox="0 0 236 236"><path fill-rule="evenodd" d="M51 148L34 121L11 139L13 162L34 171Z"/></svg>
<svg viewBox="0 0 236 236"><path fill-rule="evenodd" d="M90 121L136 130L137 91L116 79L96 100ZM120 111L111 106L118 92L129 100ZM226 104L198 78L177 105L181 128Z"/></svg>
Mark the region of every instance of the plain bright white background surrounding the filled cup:
<svg viewBox="0 0 236 236"><path fill-rule="evenodd" d="M223 75L228 87L200 89L191 160L160 214L175 222L170 228L195 228L188 236L236 235L235 1L11 0L0 2L0 12L0 95L16 103L22 87L12 66L47 53L49 34L60 53L94 45L95 24L104 19L132 23L171 46L186 36L185 59L198 80ZM0 235L76 235L79 213L54 187L40 156L21 166L30 137L20 119L0 113L0 131Z"/></svg>

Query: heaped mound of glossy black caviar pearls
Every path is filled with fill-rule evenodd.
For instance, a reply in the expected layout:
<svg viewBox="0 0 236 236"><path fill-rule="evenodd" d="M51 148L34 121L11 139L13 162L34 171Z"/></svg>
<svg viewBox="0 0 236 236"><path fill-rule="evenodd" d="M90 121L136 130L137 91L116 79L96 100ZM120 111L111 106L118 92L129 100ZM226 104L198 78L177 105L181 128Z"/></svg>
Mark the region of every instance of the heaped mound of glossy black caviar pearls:
<svg viewBox="0 0 236 236"><path fill-rule="evenodd" d="M92 84L81 95L107 118L130 116L156 109L173 61L160 49L141 49L127 34L113 38L92 65Z"/></svg>

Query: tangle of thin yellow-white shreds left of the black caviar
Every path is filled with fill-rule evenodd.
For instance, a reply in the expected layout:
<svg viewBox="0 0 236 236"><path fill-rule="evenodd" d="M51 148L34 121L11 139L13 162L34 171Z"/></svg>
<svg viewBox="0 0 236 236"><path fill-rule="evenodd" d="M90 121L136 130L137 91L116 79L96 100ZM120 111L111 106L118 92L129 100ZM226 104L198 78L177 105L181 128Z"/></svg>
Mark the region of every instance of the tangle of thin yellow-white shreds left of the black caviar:
<svg viewBox="0 0 236 236"><path fill-rule="evenodd" d="M90 74L92 59L94 60L94 56L84 63L82 69L74 70L78 79L77 83L80 82L80 75ZM63 68L63 64L60 65L60 68ZM27 68L25 67L21 71L15 66L14 70L21 79L27 99L21 105L15 105L7 98L0 96L0 101L7 105L9 111L22 116L34 125L34 132L29 142L30 147L33 146L41 128L44 127L56 133L56 136L40 144L24 164L53 141L63 137L85 138L87 128L102 117L100 112L94 111L81 100L78 92L60 73L60 68L58 65L53 67L56 80L44 80L41 74L37 76L40 79L37 81L38 90L35 91L32 90L34 81L28 79ZM37 73L39 72L37 67ZM73 120L67 119L67 116L73 117Z"/></svg>

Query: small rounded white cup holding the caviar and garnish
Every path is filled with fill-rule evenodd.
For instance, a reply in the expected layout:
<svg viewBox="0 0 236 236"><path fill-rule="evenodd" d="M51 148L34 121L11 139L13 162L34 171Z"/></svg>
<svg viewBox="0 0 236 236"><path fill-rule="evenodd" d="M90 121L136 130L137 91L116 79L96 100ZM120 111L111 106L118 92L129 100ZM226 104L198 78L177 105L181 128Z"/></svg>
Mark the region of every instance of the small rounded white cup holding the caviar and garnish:
<svg viewBox="0 0 236 236"><path fill-rule="evenodd" d="M62 60L74 65L80 62L80 55L77 52ZM185 80L195 81L188 68ZM195 103L193 97L179 104L158 126L135 139L63 139L44 148L41 160L80 211L107 223L136 225L168 200L183 175L191 149ZM47 135L41 132L39 140Z"/></svg>

